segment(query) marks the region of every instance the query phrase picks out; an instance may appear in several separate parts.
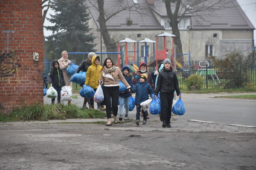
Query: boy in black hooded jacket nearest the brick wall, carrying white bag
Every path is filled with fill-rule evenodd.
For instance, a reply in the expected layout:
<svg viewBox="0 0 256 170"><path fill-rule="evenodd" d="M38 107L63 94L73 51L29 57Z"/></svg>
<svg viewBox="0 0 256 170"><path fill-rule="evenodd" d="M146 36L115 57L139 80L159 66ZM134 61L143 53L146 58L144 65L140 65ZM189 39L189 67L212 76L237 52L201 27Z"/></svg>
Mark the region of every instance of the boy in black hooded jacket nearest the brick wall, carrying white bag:
<svg viewBox="0 0 256 170"><path fill-rule="evenodd" d="M53 69L48 74L48 83L52 84L53 88L57 91L57 102L60 103L60 91L62 86L65 86L65 80L62 69L59 68L59 62L53 62ZM52 98L52 104L54 104L55 98Z"/></svg>

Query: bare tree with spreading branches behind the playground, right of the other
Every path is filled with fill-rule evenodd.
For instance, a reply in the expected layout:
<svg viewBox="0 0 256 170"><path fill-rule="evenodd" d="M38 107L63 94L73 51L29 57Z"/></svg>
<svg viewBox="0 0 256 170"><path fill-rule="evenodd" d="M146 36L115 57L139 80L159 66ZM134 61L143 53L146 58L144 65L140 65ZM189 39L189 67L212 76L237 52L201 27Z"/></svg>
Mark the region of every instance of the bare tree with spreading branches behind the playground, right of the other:
<svg viewBox="0 0 256 170"><path fill-rule="evenodd" d="M182 43L178 24L184 16L193 16L193 19L205 20L207 16L215 15L215 11L229 8L234 0L163 0L167 16L170 19L172 34L177 45L177 53L182 54Z"/></svg>

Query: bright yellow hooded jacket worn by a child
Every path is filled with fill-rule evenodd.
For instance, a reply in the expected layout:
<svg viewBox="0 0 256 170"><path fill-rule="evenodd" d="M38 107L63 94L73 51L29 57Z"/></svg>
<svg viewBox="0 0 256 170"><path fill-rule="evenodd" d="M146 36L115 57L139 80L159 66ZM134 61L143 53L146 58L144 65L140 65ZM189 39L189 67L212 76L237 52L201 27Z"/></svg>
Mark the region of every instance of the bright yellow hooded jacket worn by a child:
<svg viewBox="0 0 256 170"><path fill-rule="evenodd" d="M88 68L86 72L86 79L85 83L86 85L89 85L91 88L98 88L99 86L99 79L100 79L100 71L102 69L101 65L96 65L95 64L95 59L98 58L99 56L93 56L92 58L92 65Z"/></svg>

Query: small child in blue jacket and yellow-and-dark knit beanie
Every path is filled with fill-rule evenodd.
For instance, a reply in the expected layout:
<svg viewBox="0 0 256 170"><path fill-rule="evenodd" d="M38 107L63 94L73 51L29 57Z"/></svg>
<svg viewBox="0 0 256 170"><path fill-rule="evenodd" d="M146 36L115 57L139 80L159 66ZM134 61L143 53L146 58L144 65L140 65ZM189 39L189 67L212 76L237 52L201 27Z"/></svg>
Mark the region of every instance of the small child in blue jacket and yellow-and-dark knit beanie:
<svg viewBox="0 0 256 170"><path fill-rule="evenodd" d="M152 96L154 94L154 91L151 87L151 85L147 81L148 75L147 74L141 74L139 81L136 85L133 86L132 93L136 92L135 95L135 105L136 105L136 125L139 126L139 116L141 111L140 104L142 102L145 102L148 99L148 95ZM151 97L150 97L151 98ZM152 99L152 98L151 98ZM142 110L143 113L143 125L147 124L147 114Z"/></svg>

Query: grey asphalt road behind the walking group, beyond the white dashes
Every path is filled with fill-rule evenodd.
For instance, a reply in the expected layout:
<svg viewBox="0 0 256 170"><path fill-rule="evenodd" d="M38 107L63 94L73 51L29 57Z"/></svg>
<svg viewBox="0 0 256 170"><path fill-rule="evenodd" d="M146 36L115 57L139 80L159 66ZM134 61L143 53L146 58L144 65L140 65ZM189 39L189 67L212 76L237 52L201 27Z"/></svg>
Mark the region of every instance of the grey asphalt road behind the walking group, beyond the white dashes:
<svg viewBox="0 0 256 170"><path fill-rule="evenodd" d="M256 93L242 93L256 94ZM182 102L186 112L182 116L175 116L175 119L182 121L200 120L223 124L256 126L256 100L248 99L224 99L219 96L242 95L237 93L220 94L182 94ZM84 98L79 94L78 100L72 103L82 106ZM135 94L133 94L135 97ZM177 98L178 99L178 98ZM44 97L44 103L50 104L50 98ZM65 103L65 102L64 102ZM67 103L67 102L66 102ZM96 103L95 103L96 107ZM132 111L132 112L135 112ZM123 110L123 113L124 110ZM134 113L135 114L135 113ZM133 118L135 119L135 118Z"/></svg>

